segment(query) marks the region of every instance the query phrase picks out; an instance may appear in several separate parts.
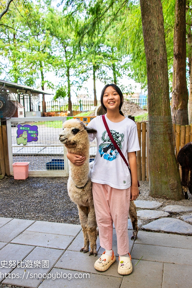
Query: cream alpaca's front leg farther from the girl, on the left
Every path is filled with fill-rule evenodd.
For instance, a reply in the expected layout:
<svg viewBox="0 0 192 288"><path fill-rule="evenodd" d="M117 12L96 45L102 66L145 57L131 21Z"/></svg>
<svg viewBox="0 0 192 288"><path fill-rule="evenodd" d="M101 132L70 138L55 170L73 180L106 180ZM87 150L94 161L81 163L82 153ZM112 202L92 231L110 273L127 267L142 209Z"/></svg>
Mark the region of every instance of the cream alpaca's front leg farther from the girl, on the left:
<svg viewBox="0 0 192 288"><path fill-rule="evenodd" d="M88 219L88 208L85 206L78 206L77 208L79 210L79 220L81 222L81 227L83 231L83 239L84 239L84 245L80 249L80 252L83 251L83 253L86 253L89 251L89 237L88 237L88 231L87 231L87 219Z"/></svg>

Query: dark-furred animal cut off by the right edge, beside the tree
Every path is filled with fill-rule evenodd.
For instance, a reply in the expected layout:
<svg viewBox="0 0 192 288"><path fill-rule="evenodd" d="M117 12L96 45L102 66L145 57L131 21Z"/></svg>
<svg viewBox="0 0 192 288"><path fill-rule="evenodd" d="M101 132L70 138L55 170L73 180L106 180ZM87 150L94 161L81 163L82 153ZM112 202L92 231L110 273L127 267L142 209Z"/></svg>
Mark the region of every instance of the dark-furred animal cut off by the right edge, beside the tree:
<svg viewBox="0 0 192 288"><path fill-rule="evenodd" d="M189 142L180 149L177 160L181 166L182 176L181 176L181 185L183 188L183 192L185 194L185 199L189 199L187 194L187 187L189 192L192 194L192 142ZM190 171L190 179L188 181Z"/></svg>

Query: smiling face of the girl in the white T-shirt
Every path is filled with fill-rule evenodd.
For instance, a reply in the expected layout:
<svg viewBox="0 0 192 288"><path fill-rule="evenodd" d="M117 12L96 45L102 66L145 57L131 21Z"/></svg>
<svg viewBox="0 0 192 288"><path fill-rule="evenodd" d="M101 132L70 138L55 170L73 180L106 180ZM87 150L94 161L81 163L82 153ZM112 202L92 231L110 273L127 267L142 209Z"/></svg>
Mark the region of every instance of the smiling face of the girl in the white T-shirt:
<svg viewBox="0 0 192 288"><path fill-rule="evenodd" d="M120 103L120 95L117 91L112 86L107 87L103 95L104 106L109 110L115 110L119 109Z"/></svg>

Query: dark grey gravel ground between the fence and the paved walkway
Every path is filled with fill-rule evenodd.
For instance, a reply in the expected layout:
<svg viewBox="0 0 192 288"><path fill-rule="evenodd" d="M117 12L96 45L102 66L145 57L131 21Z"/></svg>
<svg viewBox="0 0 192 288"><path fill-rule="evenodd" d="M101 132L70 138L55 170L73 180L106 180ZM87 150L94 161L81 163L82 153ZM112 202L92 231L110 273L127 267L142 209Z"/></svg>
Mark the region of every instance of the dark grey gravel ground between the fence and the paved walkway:
<svg viewBox="0 0 192 288"><path fill-rule="evenodd" d="M5 177L0 180L0 217L80 224L77 206L67 193L67 179L67 177L29 177L26 180L14 180L13 177ZM149 196L149 182L139 181L139 183L141 194L138 200L154 200L163 203L156 210L162 210L167 205L192 206L192 195L190 200L157 199ZM190 213L171 214L170 217L179 219L181 215ZM154 219L141 219L141 221L144 225ZM7 287L24 288L0 284L0 288Z"/></svg>

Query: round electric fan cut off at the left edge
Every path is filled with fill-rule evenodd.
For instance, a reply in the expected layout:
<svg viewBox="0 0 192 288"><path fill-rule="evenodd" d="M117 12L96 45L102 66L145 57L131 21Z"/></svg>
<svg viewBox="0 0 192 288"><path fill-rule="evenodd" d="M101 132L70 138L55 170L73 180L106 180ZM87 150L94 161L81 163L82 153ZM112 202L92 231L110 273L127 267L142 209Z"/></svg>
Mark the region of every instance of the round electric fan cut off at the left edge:
<svg viewBox="0 0 192 288"><path fill-rule="evenodd" d="M16 112L17 99L15 94L5 86L0 86L0 119L6 121Z"/></svg>

